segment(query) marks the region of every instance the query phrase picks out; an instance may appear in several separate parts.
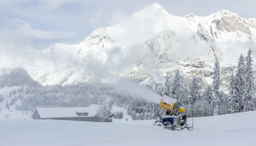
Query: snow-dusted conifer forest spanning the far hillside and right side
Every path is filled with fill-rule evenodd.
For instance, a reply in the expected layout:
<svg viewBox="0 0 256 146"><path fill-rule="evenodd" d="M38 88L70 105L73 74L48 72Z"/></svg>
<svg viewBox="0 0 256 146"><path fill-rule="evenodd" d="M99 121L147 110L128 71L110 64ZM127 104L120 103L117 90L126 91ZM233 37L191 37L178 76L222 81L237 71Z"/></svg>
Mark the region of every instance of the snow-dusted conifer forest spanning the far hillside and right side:
<svg viewBox="0 0 256 146"><path fill-rule="evenodd" d="M241 54L238 58L236 71L228 78L228 94L220 90L222 80L218 60L214 62L212 84L203 86L201 78L197 76L185 82L183 75L176 70L174 76L166 74L162 90L158 89L156 92L161 96L166 94L179 100L186 108L185 114L188 117L192 117L192 109L194 117L255 111L255 84L251 54L249 50L246 57ZM14 75L11 74L11 76ZM30 79L30 77L26 78ZM2 83L1 86L4 84ZM5 108L20 102L15 106L20 111L33 112L38 107L89 106L90 104L103 104L111 110L115 104L126 108L133 120L157 119L164 115L158 103L135 96L127 90L117 89L113 84L104 83L41 86L32 82L29 86L22 86L9 94L0 94L0 102L3 102L3 99L7 99ZM119 119L123 117L121 111L115 114Z"/></svg>

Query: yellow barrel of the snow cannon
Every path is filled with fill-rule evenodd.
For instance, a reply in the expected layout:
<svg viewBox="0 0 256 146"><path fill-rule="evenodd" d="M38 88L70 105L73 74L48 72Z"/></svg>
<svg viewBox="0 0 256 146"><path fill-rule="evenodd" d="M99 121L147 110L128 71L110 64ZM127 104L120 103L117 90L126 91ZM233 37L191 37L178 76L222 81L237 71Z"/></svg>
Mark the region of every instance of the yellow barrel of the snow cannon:
<svg viewBox="0 0 256 146"><path fill-rule="evenodd" d="M184 113L185 108L181 106L177 99L171 98L167 95L163 96L160 101L160 107L170 114ZM174 112L173 112L174 111Z"/></svg>

